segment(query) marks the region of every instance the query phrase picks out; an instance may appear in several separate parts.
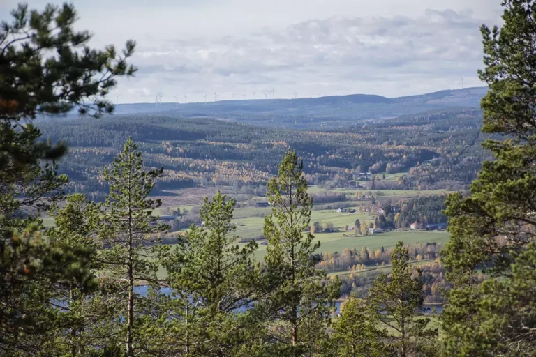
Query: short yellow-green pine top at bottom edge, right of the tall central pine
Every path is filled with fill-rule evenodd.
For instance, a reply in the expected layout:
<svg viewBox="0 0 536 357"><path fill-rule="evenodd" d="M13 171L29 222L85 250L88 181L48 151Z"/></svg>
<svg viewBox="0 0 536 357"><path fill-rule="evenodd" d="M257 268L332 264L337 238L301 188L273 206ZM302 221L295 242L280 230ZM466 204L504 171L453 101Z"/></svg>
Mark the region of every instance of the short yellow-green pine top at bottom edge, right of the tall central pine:
<svg viewBox="0 0 536 357"><path fill-rule="evenodd" d="M332 344L335 356L380 357L387 354L383 340L387 331L378 328L379 314L376 309L353 294L341 305L341 316L333 324Z"/></svg>

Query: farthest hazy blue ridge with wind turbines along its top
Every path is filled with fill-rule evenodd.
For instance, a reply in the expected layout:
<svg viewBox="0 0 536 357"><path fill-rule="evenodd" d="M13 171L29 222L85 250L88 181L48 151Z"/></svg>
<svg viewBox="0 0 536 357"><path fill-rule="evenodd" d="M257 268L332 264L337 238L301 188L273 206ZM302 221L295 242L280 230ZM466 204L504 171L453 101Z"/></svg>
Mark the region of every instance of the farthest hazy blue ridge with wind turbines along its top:
<svg viewBox="0 0 536 357"><path fill-rule="evenodd" d="M250 123L260 126L284 128L333 129L346 128L358 121L393 118L410 114L423 114L447 109L475 109L486 93L486 88L468 88L438 91L420 96L385 98L354 94L320 98L260 99L253 100L249 93L245 100L192 102L188 104L163 102L117 105L116 114L160 114L174 117L208 117ZM207 98L212 98L207 97Z"/></svg>

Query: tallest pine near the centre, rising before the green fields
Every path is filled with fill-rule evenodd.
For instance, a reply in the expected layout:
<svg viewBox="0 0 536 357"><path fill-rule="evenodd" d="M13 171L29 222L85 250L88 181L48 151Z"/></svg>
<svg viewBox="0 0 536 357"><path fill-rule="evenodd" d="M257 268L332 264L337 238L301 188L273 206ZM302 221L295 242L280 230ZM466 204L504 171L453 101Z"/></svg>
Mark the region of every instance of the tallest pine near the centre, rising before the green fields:
<svg viewBox="0 0 536 357"><path fill-rule="evenodd" d="M338 279L326 282L325 271L315 269L318 262L311 233L304 230L311 221L313 202L295 152L288 151L278 174L267 185L271 215L265 217L264 234L268 241L265 261L278 287L269 298L273 327L278 341L273 346L284 356L315 354L325 339L329 311L338 297Z"/></svg>

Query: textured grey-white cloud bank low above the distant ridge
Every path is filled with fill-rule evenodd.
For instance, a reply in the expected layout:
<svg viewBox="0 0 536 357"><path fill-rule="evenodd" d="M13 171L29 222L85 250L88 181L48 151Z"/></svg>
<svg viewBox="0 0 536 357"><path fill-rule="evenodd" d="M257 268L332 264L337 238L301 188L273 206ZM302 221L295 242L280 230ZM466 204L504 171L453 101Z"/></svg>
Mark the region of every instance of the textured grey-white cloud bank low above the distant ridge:
<svg viewBox="0 0 536 357"><path fill-rule="evenodd" d="M230 98L233 91L271 88L283 98L292 91L403 96L454 88L460 75L474 86L481 23L467 12L426 10L415 17L335 16L248 36L167 40L140 46L134 83L158 86L170 97L188 91L197 100L214 90Z"/></svg>

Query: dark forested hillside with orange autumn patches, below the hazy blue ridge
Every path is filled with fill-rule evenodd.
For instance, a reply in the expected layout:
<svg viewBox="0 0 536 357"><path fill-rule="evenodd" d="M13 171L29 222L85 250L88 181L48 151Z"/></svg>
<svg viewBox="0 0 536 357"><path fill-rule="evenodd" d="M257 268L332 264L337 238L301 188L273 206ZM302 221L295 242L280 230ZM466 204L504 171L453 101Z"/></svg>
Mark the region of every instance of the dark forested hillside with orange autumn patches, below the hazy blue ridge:
<svg viewBox="0 0 536 357"><path fill-rule="evenodd" d="M374 183L387 189L466 188L480 168L482 114L457 109L359 122L329 131L267 128L168 114L117 115L40 123L52 142L66 139L70 153L60 170L71 188L101 197L100 179L124 141L140 143L147 165L166 169L157 189L193 185L264 185L281 156L295 149L308 181L329 187L355 185L360 172L405 172L401 179ZM385 187L384 187L385 186Z"/></svg>

